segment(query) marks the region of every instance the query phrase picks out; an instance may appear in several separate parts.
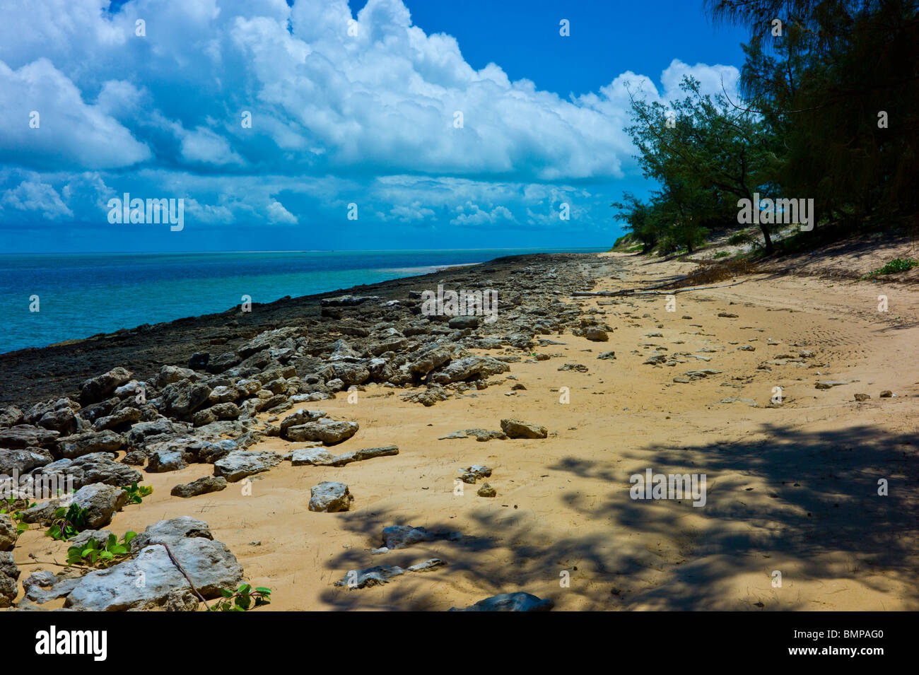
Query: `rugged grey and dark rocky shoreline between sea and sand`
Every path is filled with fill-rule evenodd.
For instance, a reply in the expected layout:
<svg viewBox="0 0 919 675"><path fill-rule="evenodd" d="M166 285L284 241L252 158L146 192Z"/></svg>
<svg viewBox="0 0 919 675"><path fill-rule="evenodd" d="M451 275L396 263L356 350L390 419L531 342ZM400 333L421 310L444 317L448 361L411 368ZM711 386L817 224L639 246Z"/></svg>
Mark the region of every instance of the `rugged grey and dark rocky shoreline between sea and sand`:
<svg viewBox="0 0 919 675"><path fill-rule="evenodd" d="M327 448L357 433L358 423L334 419L318 409L320 402L375 384L432 406L500 382L495 377L515 363L546 357L531 352L556 343L553 335L605 342L611 329L603 315L585 311L571 296L610 276L614 265L591 254L501 258L346 293L283 298L251 312L234 308L2 354L0 396L8 405L0 408L0 475L19 480L0 485L12 495L7 511L22 523L56 522L56 508L69 502L32 505L28 486L67 478L76 490L73 501L85 509L80 541L105 541L110 533L103 528L115 512L130 508L128 489L145 474L212 465L212 476L172 489L177 499L187 499L285 461L337 467L397 455L396 445L333 455ZM438 284L496 291L496 321L425 316L422 292ZM544 427L530 422L507 419L501 426L501 432L464 433L484 434L479 440L546 437ZM289 451L249 450L269 437L289 444ZM490 475L485 469L470 467L463 481ZM479 494L494 496L494 489L484 484ZM326 481L312 488L309 510L347 511L351 500L345 484ZM16 539L15 523L0 513L0 607L18 594L20 570L11 553ZM233 553L213 541L208 523L187 516L154 523L130 549L130 558L85 574L73 567L57 575L35 572L23 581L18 608L40 609L64 598L64 607L74 610L195 610L199 600L220 598L244 579ZM408 571L441 563L427 560ZM138 575L147 579L143 588L124 592ZM360 587L385 582L376 568L360 571L357 579ZM550 608L516 595L470 609Z"/></svg>

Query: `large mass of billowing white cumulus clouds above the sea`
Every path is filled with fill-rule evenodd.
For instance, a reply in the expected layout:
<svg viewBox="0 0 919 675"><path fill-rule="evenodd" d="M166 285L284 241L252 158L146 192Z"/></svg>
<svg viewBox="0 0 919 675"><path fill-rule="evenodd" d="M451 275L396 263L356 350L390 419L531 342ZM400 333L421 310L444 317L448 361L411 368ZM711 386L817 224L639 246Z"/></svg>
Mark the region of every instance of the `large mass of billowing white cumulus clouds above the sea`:
<svg viewBox="0 0 919 675"><path fill-rule="evenodd" d="M686 74L711 93L738 75L674 60L659 84L620 73L566 99L471 67L402 0L10 0L0 219L97 219L130 191L214 227L335 221L350 202L407 226L549 228L562 201L600 221L608 198L573 185L621 178L629 92L665 101Z"/></svg>

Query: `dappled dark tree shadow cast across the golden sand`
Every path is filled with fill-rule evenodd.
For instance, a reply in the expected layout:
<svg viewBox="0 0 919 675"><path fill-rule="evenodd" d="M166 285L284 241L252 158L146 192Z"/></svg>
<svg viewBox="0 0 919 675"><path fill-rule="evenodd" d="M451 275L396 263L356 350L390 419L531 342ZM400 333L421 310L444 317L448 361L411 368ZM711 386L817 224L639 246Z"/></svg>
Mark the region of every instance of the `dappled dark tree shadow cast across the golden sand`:
<svg viewBox="0 0 919 675"><path fill-rule="evenodd" d="M617 462L562 456L544 473L556 482L584 478L572 484L577 489L552 494L570 527L547 533L530 511L474 507L465 514L463 540L380 556L351 548L326 563L335 579L348 569L407 567L429 557L447 561L445 568L407 574L377 589L330 587L323 601L337 609L444 610L448 605L438 591L452 588L464 597L477 593L473 602L528 591L553 598L560 609L820 610L825 606L801 598L794 582L834 579L843 587L879 592L902 584L909 591L899 601L919 609L919 454L913 434L868 426L802 432L780 424L762 431L768 440L618 449ZM695 508L686 500L630 499L630 475L647 467L706 474L707 503ZM879 496L880 478L889 481L889 496ZM427 521L422 508L357 511L344 522L368 548L380 546L382 528L391 524L457 529ZM780 560L797 566L786 576L784 593L771 588L769 577ZM565 569L570 588L559 583ZM738 579L750 575L762 583L743 597Z"/></svg>

